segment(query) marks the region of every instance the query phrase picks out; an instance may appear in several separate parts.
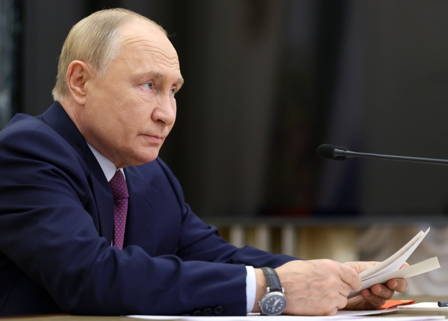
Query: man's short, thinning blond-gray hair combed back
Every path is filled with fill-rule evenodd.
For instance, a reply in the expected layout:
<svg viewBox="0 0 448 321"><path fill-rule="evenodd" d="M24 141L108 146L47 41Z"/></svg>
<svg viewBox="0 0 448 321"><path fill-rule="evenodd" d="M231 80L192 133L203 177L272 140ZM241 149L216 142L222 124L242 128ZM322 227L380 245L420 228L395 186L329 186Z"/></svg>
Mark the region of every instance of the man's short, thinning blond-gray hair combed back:
<svg viewBox="0 0 448 321"><path fill-rule="evenodd" d="M99 77L104 77L121 48L120 27L135 20L149 22L167 34L154 21L122 8L94 12L75 24L65 39L59 56L53 99L60 102L69 94L66 75L68 66L74 60L89 63Z"/></svg>

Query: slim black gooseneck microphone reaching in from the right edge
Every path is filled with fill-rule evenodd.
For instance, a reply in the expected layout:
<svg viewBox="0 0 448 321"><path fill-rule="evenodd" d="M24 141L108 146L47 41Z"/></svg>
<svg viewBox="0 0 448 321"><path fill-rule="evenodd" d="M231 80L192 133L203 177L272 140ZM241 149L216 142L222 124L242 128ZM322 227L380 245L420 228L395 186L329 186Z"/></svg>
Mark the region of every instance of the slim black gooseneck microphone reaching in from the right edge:
<svg viewBox="0 0 448 321"><path fill-rule="evenodd" d="M448 160L446 159L357 153L349 151L346 147L335 146L330 144L320 145L317 149L317 153L321 157L334 160L345 160L347 159L347 157L365 157L365 158L380 158L380 159L414 162L414 163L448 165Z"/></svg>

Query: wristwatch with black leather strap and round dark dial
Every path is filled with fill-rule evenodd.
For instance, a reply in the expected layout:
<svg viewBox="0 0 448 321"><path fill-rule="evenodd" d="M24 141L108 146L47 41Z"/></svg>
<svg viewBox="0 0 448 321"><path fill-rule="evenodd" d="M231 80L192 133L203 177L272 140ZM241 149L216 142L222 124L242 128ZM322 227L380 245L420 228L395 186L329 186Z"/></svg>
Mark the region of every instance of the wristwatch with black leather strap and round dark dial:
<svg viewBox="0 0 448 321"><path fill-rule="evenodd" d="M261 314L266 316L277 316L286 309L285 290L280 284L277 272L270 267L262 267L268 283L266 294L258 302Z"/></svg>

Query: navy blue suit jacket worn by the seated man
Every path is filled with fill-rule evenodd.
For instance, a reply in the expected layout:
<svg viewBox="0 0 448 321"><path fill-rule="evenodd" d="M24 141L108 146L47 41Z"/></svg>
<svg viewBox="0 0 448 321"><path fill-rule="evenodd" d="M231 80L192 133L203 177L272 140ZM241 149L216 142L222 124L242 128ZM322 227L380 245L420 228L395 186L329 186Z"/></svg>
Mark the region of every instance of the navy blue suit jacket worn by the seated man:
<svg viewBox="0 0 448 321"><path fill-rule="evenodd" d="M0 316L245 315L245 265L294 258L226 243L160 160L124 169L125 248L112 192L65 110L17 114L0 133Z"/></svg>

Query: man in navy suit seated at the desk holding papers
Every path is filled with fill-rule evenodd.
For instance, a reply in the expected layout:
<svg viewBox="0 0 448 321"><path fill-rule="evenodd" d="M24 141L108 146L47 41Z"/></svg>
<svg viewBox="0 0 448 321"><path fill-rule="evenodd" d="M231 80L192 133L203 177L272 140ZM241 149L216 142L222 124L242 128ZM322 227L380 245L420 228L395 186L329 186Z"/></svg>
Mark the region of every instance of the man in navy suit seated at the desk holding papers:
<svg viewBox="0 0 448 321"><path fill-rule="evenodd" d="M375 262L236 248L193 214L157 157L182 83L153 21L109 9L72 28L55 103L0 133L0 316L245 315L260 311L261 267L275 268L291 315L375 309L406 289L392 279L347 300Z"/></svg>

